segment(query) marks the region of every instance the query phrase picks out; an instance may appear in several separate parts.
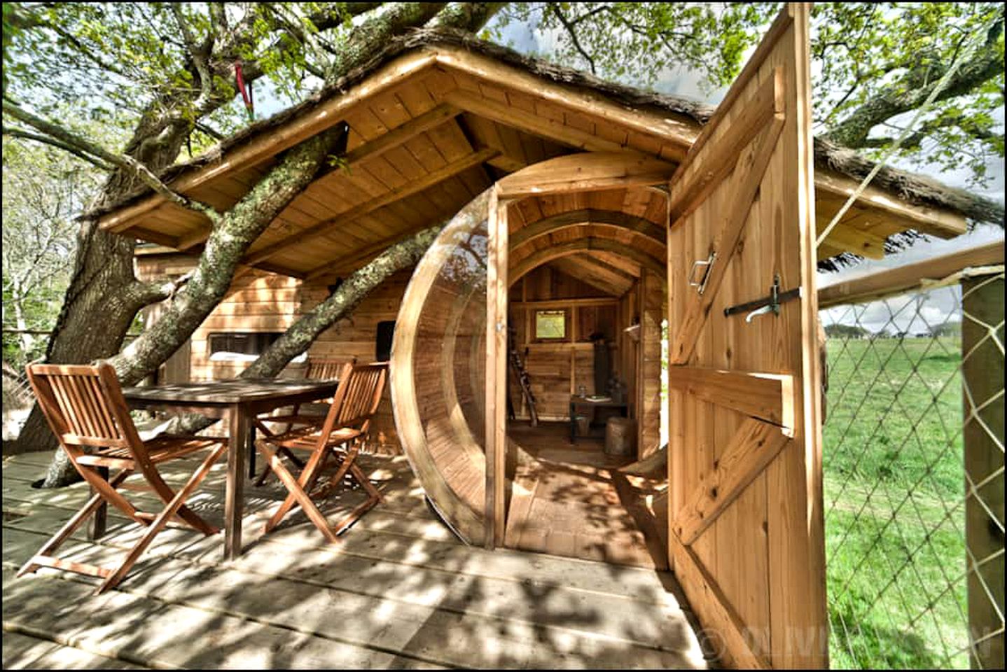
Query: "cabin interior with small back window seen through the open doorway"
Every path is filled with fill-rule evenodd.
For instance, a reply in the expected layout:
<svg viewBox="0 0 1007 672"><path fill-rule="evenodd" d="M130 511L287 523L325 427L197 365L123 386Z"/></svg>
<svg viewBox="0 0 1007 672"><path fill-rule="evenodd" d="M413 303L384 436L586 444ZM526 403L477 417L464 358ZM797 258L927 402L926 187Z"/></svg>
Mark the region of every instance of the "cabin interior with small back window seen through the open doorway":
<svg viewBox="0 0 1007 672"><path fill-rule="evenodd" d="M667 444L666 199L635 187L511 208L507 434L533 460L510 485L506 546L667 567L665 465L619 471Z"/></svg>

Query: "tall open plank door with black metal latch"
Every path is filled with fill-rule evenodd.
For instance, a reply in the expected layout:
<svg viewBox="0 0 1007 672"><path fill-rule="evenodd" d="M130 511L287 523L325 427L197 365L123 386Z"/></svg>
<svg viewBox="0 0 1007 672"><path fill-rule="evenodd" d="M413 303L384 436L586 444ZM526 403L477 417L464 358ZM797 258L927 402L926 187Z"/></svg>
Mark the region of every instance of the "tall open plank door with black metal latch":
<svg viewBox="0 0 1007 672"><path fill-rule="evenodd" d="M671 182L669 555L741 667L828 664L808 11L783 10ZM774 286L777 312L725 314Z"/></svg>

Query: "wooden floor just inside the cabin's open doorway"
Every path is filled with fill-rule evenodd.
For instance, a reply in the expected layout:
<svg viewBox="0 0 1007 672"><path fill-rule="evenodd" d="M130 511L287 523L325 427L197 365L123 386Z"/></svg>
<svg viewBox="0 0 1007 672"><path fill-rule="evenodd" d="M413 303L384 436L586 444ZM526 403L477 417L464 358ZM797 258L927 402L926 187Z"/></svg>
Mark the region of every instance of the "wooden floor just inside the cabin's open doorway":
<svg viewBox="0 0 1007 672"><path fill-rule="evenodd" d="M518 467L506 544L538 552L646 568L668 568L666 542L644 504L641 479L615 468L632 458L613 457L596 439L569 442L566 423L508 432L536 459Z"/></svg>

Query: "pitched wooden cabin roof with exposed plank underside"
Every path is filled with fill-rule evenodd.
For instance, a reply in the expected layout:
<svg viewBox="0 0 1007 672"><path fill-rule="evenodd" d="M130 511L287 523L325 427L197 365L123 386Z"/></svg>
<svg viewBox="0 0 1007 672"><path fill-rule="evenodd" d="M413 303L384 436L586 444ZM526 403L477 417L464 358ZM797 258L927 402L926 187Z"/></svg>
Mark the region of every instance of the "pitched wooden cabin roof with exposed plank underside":
<svg viewBox="0 0 1007 672"><path fill-rule="evenodd" d="M620 151L657 157L674 167L712 112L694 101L606 82L468 35L423 30L394 42L304 103L169 169L163 178L176 190L226 209L284 150L346 123L345 168L315 180L245 260L294 277L335 278L392 242L449 218L496 179L544 159L585 150ZM824 226L856 189L863 164L826 143L816 144L816 206ZM880 257L885 239L907 229L942 237L966 230L954 190L934 188L932 180L901 171L882 172L879 183L886 188L867 189L820 257ZM645 189L622 192L608 197L616 202L653 195ZM583 205L540 204L540 209L590 209ZM107 230L182 250L197 250L208 234L205 217L144 189L91 214ZM527 217L515 221L515 227L535 223ZM660 225L661 217L655 222ZM614 235L604 224L590 226L592 238ZM554 244L556 236L569 236L571 230L550 232L530 241L528 249ZM570 259L603 261L600 256L612 254L603 246L577 250Z"/></svg>

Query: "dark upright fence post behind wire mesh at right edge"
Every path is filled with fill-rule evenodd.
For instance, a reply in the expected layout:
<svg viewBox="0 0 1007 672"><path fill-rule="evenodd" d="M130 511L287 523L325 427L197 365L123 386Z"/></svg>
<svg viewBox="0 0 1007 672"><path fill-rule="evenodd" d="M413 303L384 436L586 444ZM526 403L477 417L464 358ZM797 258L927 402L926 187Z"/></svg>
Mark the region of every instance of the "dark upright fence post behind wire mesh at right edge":
<svg viewBox="0 0 1007 672"><path fill-rule="evenodd" d="M970 658L973 668L1003 669L1003 272L963 280L962 313Z"/></svg>

